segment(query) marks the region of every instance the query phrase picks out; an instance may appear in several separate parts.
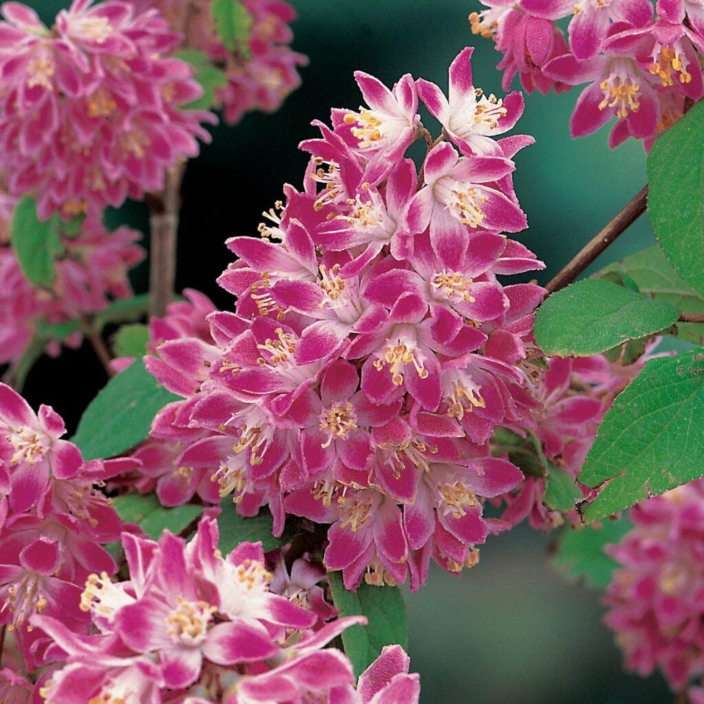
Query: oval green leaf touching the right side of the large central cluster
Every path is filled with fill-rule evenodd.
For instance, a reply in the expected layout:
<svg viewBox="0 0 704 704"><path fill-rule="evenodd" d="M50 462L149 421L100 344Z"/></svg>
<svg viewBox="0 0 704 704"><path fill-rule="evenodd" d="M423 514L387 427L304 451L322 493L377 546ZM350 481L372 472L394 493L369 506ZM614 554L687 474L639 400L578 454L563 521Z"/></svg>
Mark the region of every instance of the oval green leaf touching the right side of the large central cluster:
<svg viewBox="0 0 704 704"><path fill-rule="evenodd" d="M535 339L548 356L586 357L670 327L679 310L600 279L585 279L538 309Z"/></svg>

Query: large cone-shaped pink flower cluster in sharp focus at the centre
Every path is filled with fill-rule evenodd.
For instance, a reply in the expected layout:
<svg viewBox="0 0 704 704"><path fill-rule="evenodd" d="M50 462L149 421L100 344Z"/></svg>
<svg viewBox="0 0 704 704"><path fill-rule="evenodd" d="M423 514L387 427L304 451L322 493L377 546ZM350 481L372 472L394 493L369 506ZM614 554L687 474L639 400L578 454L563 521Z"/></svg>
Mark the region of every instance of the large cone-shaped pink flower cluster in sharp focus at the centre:
<svg viewBox="0 0 704 704"><path fill-rule="evenodd" d="M260 239L228 242L239 260L219 282L234 312L146 359L183 397L152 431L183 444L176 467L208 470L242 515L268 504L276 534L287 513L331 524L325 565L351 588L416 589L431 557L453 573L474 564L508 527L483 499L523 479L489 439L537 403L523 363L544 291L497 278L543 267L501 234L526 227L513 156L532 138L496 139L522 98L475 88L471 53L453 61L448 97L357 73L367 105L315 122L303 191L286 187ZM419 96L451 142L432 143ZM420 137L419 175L405 153Z"/></svg>

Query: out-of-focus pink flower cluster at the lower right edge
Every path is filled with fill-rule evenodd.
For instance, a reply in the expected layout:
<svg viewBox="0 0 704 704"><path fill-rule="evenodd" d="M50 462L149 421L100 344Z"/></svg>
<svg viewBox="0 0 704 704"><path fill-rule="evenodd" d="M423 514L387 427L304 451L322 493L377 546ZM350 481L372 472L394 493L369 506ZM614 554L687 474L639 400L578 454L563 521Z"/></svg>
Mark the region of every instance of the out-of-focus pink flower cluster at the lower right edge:
<svg viewBox="0 0 704 704"><path fill-rule="evenodd" d="M620 567L606 622L630 670L659 668L681 690L704 670L704 484L650 498L629 518L634 527L607 548Z"/></svg>

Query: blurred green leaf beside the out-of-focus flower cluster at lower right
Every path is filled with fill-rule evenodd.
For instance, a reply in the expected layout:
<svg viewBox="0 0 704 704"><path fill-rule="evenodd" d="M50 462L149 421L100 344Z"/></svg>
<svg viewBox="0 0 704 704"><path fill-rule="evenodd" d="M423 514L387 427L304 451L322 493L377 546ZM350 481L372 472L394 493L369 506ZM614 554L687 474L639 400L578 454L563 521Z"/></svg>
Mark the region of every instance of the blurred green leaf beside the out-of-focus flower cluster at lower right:
<svg viewBox="0 0 704 704"><path fill-rule="evenodd" d="M604 521L598 527L567 528L558 540L555 565L568 579L582 577L589 586L604 589L611 583L612 572L617 567L604 548L619 542L630 529L627 515Z"/></svg>

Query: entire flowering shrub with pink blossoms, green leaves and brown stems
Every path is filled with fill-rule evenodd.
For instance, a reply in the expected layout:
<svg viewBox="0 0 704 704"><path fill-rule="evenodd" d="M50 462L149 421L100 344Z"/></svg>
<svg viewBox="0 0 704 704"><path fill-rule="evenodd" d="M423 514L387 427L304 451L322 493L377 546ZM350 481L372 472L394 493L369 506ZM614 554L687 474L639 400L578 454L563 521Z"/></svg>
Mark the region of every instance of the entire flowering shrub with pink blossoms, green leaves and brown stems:
<svg viewBox="0 0 704 704"><path fill-rule="evenodd" d="M522 94L476 87L471 46L446 91L358 71L301 186L227 240L225 310L174 299L182 175L212 110L297 87L294 11L0 6L0 701L417 704L398 585L524 518L607 588L627 667L704 701L700 3L485 4L505 91L589 82L573 134L615 117L648 188L545 287L508 278L546 267L515 239ZM102 224L128 196L148 296L139 234ZM575 282L646 205L659 247ZM111 378L68 440L20 390L84 338Z"/></svg>

